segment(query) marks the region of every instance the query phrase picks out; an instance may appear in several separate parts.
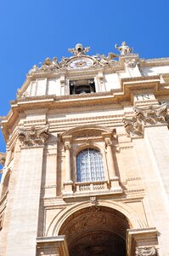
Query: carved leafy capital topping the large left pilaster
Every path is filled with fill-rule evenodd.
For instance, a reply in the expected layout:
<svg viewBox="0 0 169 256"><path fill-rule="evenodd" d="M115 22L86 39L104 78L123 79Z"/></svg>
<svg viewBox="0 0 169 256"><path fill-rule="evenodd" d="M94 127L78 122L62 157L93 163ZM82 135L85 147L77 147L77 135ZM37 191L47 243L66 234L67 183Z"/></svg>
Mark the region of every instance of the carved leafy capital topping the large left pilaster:
<svg viewBox="0 0 169 256"><path fill-rule="evenodd" d="M31 129L21 129L18 131L18 138L22 146L35 147L43 145L48 140L48 125L45 127L36 128L31 126Z"/></svg>

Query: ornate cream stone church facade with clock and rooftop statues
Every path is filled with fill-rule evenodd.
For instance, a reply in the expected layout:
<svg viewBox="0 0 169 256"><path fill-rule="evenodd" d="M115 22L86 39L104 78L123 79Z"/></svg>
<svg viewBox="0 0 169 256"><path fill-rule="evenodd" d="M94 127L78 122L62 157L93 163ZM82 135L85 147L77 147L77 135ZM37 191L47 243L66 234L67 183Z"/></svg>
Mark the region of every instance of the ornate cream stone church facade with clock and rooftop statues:
<svg viewBox="0 0 169 256"><path fill-rule="evenodd" d="M169 255L169 58L47 58L1 119L0 255Z"/></svg>

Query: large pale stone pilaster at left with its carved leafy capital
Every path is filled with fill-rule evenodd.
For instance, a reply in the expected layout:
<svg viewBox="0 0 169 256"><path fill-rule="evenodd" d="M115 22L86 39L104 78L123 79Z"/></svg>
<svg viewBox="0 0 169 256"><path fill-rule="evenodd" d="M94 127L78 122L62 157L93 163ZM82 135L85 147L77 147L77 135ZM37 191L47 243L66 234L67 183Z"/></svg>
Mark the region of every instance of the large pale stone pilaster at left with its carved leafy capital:
<svg viewBox="0 0 169 256"><path fill-rule="evenodd" d="M20 147L8 191L0 248L3 255L36 256L39 205L41 199L43 150L48 131L26 129L19 133ZM20 211L19 211L20 209Z"/></svg>

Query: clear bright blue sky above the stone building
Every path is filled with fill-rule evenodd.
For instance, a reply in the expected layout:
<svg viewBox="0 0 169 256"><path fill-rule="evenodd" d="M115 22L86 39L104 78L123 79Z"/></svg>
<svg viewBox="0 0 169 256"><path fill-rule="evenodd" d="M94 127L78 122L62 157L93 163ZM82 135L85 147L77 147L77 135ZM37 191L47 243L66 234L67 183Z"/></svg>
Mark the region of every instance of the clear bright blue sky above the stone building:
<svg viewBox="0 0 169 256"><path fill-rule="evenodd" d="M169 56L168 10L168 0L0 0L0 115L34 64L69 56L76 43L91 55L125 40L142 58Z"/></svg>

